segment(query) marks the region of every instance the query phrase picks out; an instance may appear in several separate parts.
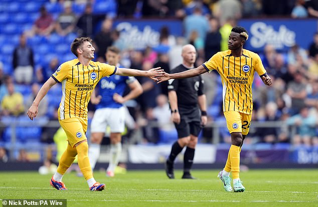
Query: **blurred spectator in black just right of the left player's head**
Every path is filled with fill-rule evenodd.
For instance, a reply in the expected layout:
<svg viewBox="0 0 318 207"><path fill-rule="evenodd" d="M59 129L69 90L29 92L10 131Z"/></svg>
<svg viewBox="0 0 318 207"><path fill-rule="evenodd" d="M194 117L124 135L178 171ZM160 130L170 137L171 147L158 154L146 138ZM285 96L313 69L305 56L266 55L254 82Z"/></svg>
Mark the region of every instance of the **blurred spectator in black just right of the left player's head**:
<svg viewBox="0 0 318 207"><path fill-rule="evenodd" d="M105 62L105 53L108 46L111 46L113 40L111 38L111 28L113 21L110 18L102 22L100 31L96 34L94 41L97 46L97 59L100 62Z"/></svg>

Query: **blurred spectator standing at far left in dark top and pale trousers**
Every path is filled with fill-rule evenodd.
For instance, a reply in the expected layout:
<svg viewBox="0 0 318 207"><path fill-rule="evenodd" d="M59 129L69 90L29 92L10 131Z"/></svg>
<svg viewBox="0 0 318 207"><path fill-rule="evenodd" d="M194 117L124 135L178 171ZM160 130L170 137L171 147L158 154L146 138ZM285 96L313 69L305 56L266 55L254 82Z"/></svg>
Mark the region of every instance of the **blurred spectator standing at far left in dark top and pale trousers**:
<svg viewBox="0 0 318 207"><path fill-rule="evenodd" d="M34 57L33 49L27 45L27 37L21 34L19 45L13 52L13 67L18 83L31 83L33 79Z"/></svg>

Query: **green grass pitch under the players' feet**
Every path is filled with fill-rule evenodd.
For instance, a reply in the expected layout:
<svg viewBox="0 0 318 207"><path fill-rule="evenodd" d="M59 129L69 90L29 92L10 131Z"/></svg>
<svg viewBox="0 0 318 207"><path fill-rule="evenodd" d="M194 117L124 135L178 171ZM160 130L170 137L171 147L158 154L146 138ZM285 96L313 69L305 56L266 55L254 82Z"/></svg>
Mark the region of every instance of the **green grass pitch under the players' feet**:
<svg viewBox="0 0 318 207"><path fill-rule="evenodd" d="M67 206L318 206L317 169L241 172L245 192L225 192L217 170L193 170L198 179L168 179L164 170L129 170L108 178L95 172L106 190L90 192L83 177L67 173L68 190L49 185L51 175L0 172L0 198L67 199Z"/></svg>

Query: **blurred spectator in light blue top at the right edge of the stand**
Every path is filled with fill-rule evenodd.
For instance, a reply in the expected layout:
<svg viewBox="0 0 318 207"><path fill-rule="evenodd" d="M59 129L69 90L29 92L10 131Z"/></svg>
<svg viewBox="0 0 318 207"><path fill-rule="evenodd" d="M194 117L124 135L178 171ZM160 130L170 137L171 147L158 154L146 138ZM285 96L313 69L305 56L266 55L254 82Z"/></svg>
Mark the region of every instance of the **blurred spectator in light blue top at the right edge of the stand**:
<svg viewBox="0 0 318 207"><path fill-rule="evenodd" d="M303 106L299 114L293 115L286 120L286 123L296 127L296 134L293 143L301 143L310 146L311 138L315 135L316 114L310 113L308 107Z"/></svg>

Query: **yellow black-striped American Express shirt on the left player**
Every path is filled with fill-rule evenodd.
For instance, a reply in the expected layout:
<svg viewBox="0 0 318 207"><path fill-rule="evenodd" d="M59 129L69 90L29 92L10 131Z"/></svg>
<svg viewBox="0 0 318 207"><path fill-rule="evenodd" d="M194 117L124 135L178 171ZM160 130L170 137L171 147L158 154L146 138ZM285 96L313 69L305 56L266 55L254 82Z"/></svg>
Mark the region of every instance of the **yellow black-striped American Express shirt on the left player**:
<svg viewBox="0 0 318 207"><path fill-rule="evenodd" d="M87 119L87 104L98 81L115 74L117 67L90 61L84 66L78 59L62 63L52 78L62 83L62 98L58 109L59 120L71 117Z"/></svg>

